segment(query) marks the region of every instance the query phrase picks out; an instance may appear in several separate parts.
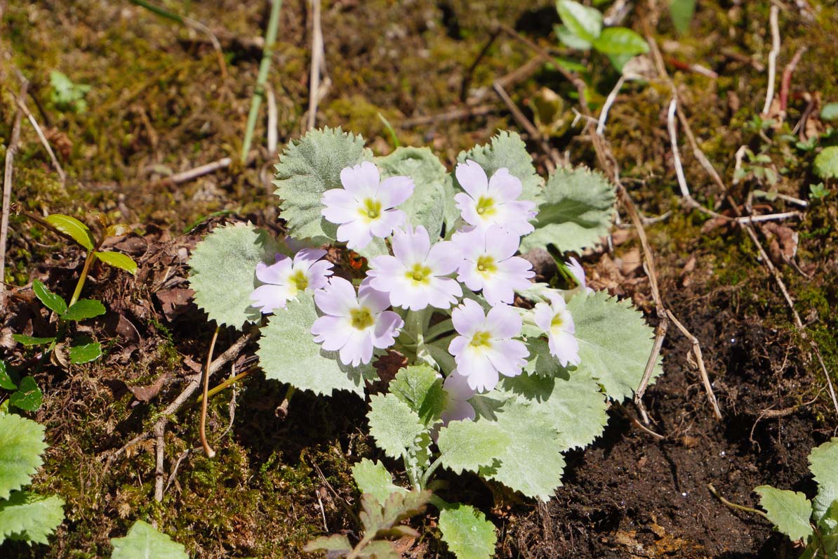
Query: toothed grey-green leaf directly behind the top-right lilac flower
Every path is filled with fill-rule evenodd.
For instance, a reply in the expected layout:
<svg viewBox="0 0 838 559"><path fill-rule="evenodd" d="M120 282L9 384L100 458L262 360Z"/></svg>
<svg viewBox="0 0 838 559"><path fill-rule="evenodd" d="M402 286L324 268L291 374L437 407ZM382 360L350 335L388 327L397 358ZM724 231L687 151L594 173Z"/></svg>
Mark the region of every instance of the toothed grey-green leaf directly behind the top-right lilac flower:
<svg viewBox="0 0 838 559"><path fill-rule="evenodd" d="M464 163L468 159L478 163L489 178L499 168L509 169L512 175L520 179L523 186L518 199L537 201L541 196L541 185L544 181L535 173L532 156L527 151L524 141L515 132L498 132L486 145L475 146L457 156L458 163Z"/></svg>

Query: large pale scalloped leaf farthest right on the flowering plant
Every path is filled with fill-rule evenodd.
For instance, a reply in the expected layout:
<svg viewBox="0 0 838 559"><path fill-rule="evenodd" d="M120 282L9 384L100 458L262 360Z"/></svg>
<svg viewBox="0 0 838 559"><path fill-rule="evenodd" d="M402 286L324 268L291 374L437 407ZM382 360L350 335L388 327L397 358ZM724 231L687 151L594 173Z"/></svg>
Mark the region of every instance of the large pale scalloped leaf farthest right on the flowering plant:
<svg viewBox="0 0 838 559"><path fill-rule="evenodd" d="M618 301L608 292L587 297L575 295L567 309L573 317L579 340L577 371L592 376L608 397L623 401L634 394L652 354L654 330L629 300ZM652 379L662 372L660 361Z"/></svg>

